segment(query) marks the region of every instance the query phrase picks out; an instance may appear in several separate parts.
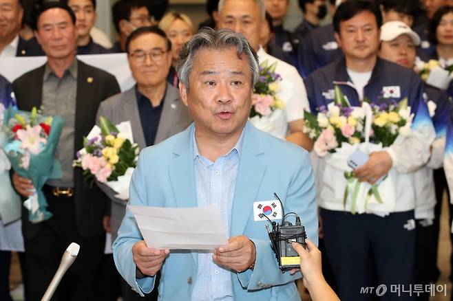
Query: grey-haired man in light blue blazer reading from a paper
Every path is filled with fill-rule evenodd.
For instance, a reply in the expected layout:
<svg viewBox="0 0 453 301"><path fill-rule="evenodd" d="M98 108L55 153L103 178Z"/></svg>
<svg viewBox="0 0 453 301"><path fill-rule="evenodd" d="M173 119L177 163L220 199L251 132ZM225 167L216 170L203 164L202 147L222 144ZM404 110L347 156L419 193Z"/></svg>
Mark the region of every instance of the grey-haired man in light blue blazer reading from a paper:
<svg viewBox="0 0 453 301"><path fill-rule="evenodd" d="M194 122L140 153L129 204L218 205L229 241L212 253L151 249L127 209L113 245L118 271L141 296L160 271L160 300L300 300L294 280L302 275L280 271L268 221L253 208L276 192L316 243L313 170L305 150L247 122L256 53L241 34L204 29L181 50L177 71Z"/></svg>

